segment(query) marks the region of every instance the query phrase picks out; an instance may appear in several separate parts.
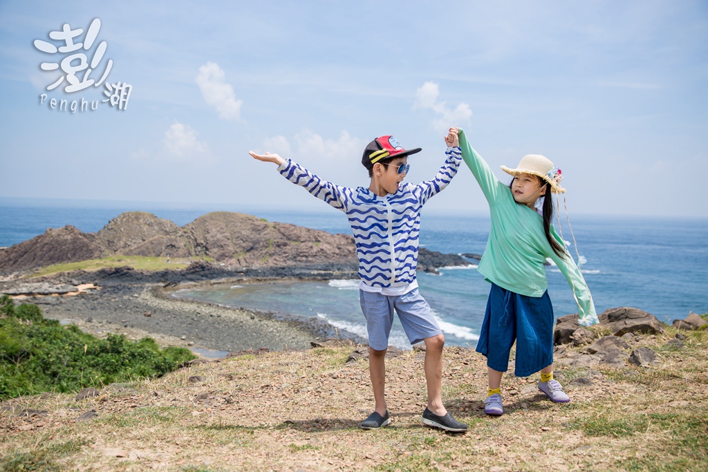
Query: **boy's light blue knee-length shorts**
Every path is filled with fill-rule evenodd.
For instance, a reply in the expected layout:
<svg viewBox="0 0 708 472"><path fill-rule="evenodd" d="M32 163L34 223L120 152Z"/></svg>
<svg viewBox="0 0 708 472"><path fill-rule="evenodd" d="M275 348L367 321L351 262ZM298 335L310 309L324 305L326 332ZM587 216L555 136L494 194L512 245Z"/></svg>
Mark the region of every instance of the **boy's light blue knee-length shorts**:
<svg viewBox="0 0 708 472"><path fill-rule="evenodd" d="M389 333L394 322L394 310L411 344L442 334L430 305L413 289L398 297L359 290L361 311L366 318L369 347L382 351L389 345Z"/></svg>

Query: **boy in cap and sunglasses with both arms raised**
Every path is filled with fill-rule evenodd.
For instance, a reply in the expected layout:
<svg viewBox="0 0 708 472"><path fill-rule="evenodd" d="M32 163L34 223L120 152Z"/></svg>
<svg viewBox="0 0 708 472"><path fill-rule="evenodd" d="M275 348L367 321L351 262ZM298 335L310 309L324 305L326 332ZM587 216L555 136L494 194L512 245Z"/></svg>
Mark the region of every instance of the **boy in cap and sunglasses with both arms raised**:
<svg viewBox="0 0 708 472"><path fill-rule="evenodd" d="M374 389L375 410L361 423L372 430L391 422L384 398L386 368L384 356L389 333L398 313L411 345L426 343L425 373L428 406L423 423L442 430L463 432L467 425L452 418L442 405L442 347L445 336L418 293L418 231L421 207L450 183L462 161L457 128L445 137L448 146L445 164L433 180L418 185L402 183L409 171L408 156L420 148L406 150L392 136L370 142L362 156L369 171L369 188L338 187L309 173L278 154L256 154L254 159L278 164L278 171L292 183L347 214L359 259L359 299L369 334L369 373Z"/></svg>

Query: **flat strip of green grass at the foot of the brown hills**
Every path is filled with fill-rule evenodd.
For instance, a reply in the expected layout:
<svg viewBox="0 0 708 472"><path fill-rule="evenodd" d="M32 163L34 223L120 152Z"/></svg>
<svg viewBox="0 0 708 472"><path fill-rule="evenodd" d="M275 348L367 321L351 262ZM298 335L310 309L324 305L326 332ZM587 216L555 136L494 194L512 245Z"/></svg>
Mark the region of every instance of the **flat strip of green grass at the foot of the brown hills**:
<svg viewBox="0 0 708 472"><path fill-rule="evenodd" d="M76 263L55 264L42 267L33 274L33 277L51 275L58 272L71 272L72 270L99 270L105 267L132 267L137 270L182 270L190 263L197 260L213 262L214 258L167 258L144 257L142 255L111 255L107 258L81 260Z"/></svg>

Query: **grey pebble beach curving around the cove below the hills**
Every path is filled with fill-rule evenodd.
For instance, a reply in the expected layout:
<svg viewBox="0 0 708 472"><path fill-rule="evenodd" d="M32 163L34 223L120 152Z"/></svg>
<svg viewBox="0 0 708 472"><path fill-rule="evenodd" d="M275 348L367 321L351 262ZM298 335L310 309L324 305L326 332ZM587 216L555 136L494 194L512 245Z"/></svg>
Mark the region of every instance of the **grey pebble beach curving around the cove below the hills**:
<svg viewBox="0 0 708 472"><path fill-rule="evenodd" d="M280 278L276 281L282 280ZM16 303L37 304L45 318L74 324L86 333L105 338L124 334L130 340L153 338L160 347L187 347L202 357L223 357L244 350L304 350L326 338L357 335L337 330L317 318L303 318L247 309L236 309L170 295L188 284L96 284L98 288L72 296L18 297ZM240 280L244 282L244 280ZM254 280L249 280L254 282Z"/></svg>

